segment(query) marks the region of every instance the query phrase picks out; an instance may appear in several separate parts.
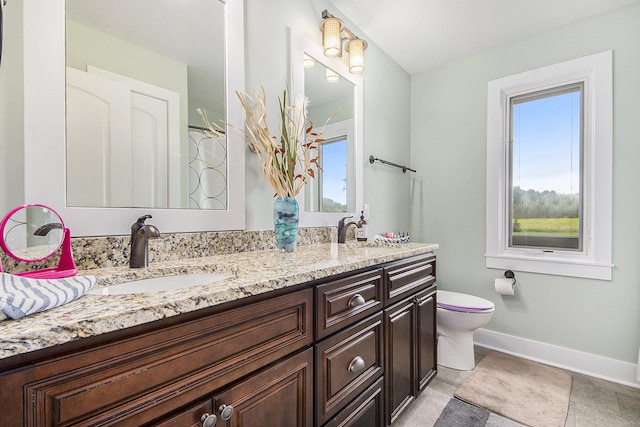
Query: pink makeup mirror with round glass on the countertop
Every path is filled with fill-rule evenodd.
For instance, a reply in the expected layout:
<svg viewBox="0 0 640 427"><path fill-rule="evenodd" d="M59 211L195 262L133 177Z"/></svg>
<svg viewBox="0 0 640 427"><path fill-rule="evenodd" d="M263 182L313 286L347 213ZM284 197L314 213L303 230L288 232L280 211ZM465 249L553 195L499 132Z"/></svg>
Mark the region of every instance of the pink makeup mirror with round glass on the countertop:
<svg viewBox="0 0 640 427"><path fill-rule="evenodd" d="M22 262L44 261L61 250L57 267L16 273L17 276L58 279L78 272L71 252L71 232L60 215L45 205L12 209L0 222L0 247L11 258Z"/></svg>

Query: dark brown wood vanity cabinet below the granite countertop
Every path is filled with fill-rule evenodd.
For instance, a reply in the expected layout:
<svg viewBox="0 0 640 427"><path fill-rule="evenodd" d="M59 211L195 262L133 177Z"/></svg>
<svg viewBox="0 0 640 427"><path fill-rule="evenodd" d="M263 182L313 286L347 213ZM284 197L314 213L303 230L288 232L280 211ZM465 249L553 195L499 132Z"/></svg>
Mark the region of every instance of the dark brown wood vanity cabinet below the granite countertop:
<svg viewBox="0 0 640 427"><path fill-rule="evenodd" d="M435 332L426 254L5 360L0 425L388 425Z"/></svg>

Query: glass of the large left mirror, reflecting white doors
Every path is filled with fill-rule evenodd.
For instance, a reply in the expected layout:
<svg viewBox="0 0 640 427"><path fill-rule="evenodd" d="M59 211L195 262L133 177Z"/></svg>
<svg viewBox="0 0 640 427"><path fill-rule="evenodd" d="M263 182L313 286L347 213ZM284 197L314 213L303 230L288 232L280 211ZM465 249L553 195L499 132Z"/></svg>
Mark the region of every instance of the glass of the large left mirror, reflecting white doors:
<svg viewBox="0 0 640 427"><path fill-rule="evenodd" d="M66 1L67 204L226 209L219 1Z"/></svg>

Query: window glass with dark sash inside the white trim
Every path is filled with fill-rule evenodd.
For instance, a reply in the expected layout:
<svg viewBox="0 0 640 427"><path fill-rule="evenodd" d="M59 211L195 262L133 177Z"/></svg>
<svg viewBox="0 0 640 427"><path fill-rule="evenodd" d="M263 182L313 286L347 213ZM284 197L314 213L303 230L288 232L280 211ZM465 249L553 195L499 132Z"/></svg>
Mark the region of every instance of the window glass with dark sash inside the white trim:
<svg viewBox="0 0 640 427"><path fill-rule="evenodd" d="M582 249L583 87L509 98L509 247Z"/></svg>

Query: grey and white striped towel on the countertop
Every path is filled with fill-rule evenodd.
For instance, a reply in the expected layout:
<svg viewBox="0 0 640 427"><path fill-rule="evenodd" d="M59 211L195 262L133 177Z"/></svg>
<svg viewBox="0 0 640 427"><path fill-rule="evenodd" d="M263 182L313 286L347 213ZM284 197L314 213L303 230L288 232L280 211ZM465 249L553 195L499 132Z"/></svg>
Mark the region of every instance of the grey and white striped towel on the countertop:
<svg viewBox="0 0 640 427"><path fill-rule="evenodd" d="M29 279L0 273L0 320L19 319L66 304L91 290L97 281L94 276Z"/></svg>

